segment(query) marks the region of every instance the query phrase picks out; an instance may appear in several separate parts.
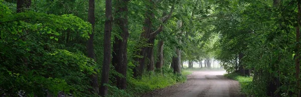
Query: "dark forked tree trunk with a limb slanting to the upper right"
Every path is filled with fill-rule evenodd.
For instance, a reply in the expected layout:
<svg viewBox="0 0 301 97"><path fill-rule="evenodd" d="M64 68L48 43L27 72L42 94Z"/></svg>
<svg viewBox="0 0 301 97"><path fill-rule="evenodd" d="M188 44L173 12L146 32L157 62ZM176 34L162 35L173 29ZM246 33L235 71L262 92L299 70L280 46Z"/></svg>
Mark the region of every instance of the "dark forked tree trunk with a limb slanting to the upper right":
<svg viewBox="0 0 301 97"><path fill-rule="evenodd" d="M146 13L145 13L145 19L144 19L144 26L143 26L143 32L140 35L140 41L143 39L146 39L148 44L151 44L150 47L142 47L142 48L138 48L141 49L141 51L139 52L138 55L142 56L142 58L134 58L134 61L139 62L138 70L134 70L134 77L140 77L143 74L144 71L144 65L145 65L145 58L148 58L147 60L147 70L148 71L154 71L154 54L153 54L153 49L154 49L154 41L155 41L155 37L163 30L163 25L160 25L160 27L156 30L156 31L152 31L152 19L155 18L154 12L153 12L153 5L154 2L153 0L147 0L148 3L151 4L147 4L146 5ZM166 23L168 21L168 19L171 17L172 13L174 10L174 6L171 8L170 13L167 14L166 16L162 17L161 22L162 23ZM138 52L137 52L138 53ZM136 73L135 73L136 72Z"/></svg>

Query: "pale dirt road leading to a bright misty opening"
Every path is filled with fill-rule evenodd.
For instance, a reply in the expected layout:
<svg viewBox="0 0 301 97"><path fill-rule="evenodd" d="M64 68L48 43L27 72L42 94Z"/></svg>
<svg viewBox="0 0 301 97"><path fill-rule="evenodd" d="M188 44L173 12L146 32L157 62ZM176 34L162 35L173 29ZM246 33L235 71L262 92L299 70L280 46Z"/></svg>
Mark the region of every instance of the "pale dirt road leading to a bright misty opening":
<svg viewBox="0 0 301 97"><path fill-rule="evenodd" d="M142 97L243 97L239 83L225 71L193 71L186 83L150 92Z"/></svg>

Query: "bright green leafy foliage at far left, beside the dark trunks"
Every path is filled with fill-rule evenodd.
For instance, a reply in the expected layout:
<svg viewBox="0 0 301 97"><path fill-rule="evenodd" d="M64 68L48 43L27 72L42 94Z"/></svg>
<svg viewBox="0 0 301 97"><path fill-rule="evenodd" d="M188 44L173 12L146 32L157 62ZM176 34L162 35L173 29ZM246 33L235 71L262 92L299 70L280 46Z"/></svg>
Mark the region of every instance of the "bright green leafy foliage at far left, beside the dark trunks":
<svg viewBox="0 0 301 97"><path fill-rule="evenodd" d="M0 1L0 94L93 96L87 90L96 63L64 41L65 32L69 40L88 39L91 24L71 14L14 13L7 4Z"/></svg>

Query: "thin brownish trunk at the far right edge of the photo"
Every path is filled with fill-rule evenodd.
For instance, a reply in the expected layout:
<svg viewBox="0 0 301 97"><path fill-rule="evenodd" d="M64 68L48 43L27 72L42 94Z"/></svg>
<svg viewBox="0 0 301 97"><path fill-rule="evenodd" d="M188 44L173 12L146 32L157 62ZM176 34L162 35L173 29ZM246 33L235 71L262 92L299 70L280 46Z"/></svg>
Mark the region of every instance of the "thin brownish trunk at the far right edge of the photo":
<svg viewBox="0 0 301 97"><path fill-rule="evenodd" d="M300 7L300 0L298 0L298 16L297 16L297 27L296 27L296 57L295 57L295 70L296 70L296 80L297 80L297 88L300 88L299 82L299 73L300 73L300 14L301 14L301 7ZM300 90L297 90L297 97L300 97Z"/></svg>

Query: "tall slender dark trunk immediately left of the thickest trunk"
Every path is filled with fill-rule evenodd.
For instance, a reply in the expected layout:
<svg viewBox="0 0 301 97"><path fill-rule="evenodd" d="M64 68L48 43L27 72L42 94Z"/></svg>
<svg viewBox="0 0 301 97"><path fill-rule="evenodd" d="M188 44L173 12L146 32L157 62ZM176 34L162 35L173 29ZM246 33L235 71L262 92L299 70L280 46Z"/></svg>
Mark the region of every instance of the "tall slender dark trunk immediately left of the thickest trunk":
<svg viewBox="0 0 301 97"><path fill-rule="evenodd" d="M104 84L109 84L109 70L111 62L111 30L112 30L112 1L105 0L105 23L104 23L104 38L103 38L103 64L102 76L100 85L100 96L104 97L108 94L108 87Z"/></svg>

